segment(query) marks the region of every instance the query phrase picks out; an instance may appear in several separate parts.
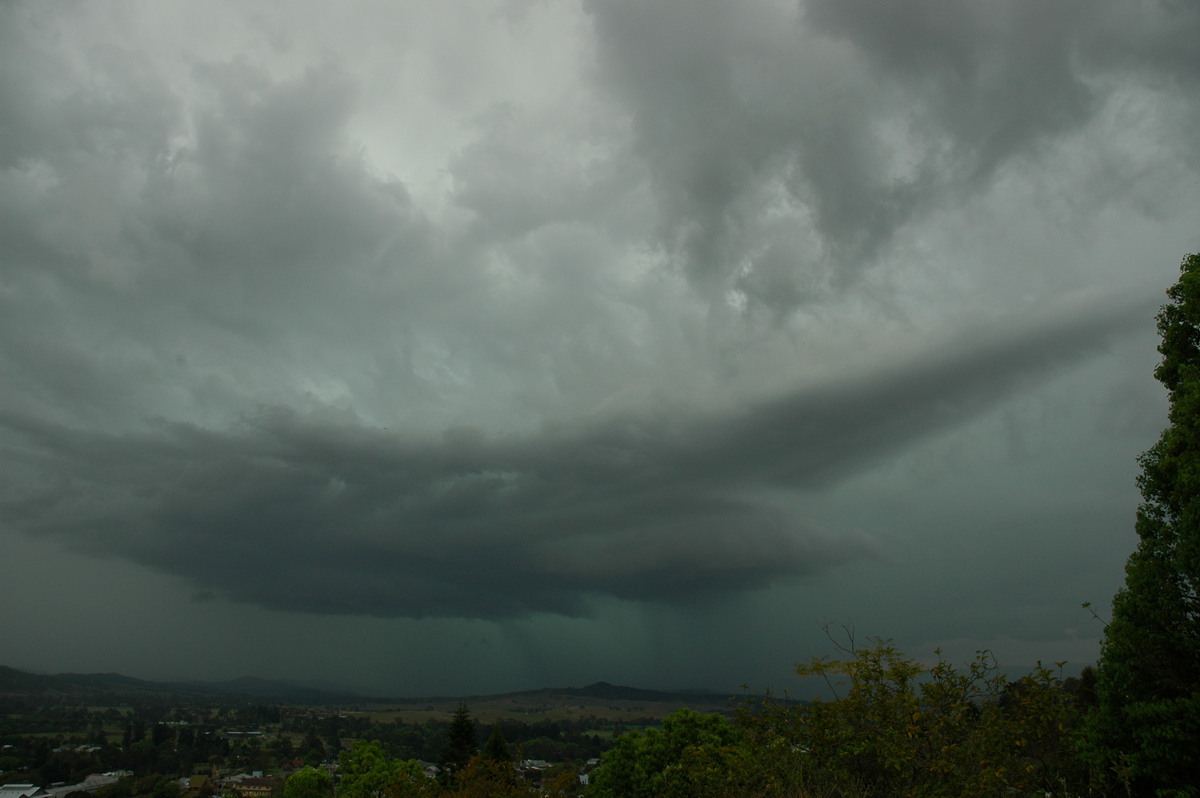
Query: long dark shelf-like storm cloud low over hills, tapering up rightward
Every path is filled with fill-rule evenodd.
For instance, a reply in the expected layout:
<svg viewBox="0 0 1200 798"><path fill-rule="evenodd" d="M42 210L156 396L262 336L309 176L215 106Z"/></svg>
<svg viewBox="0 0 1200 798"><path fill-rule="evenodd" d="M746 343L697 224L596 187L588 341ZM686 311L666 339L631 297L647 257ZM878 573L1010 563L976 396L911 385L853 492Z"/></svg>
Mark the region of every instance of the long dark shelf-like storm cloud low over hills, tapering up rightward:
<svg viewBox="0 0 1200 798"><path fill-rule="evenodd" d="M126 434L8 413L4 515L271 608L505 618L586 614L596 596L704 601L870 556L770 492L803 497L970 419L1145 313L1108 305L736 413L526 437L418 439L282 408Z"/></svg>

